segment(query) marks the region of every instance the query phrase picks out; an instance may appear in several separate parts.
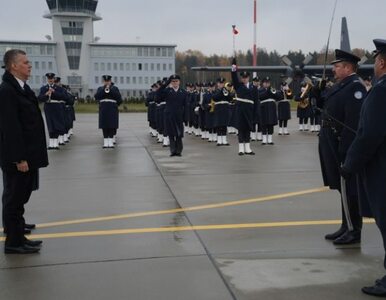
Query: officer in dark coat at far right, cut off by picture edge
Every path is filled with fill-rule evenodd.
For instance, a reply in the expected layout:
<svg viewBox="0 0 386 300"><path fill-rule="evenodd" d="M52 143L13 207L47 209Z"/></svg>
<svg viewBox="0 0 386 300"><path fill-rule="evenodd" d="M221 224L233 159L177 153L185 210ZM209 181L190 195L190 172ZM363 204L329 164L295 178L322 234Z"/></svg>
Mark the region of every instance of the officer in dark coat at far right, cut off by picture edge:
<svg viewBox="0 0 386 300"><path fill-rule="evenodd" d="M347 151L341 174L346 180L358 174L363 216L375 219L386 251L386 40L373 42L377 83L363 102L357 135ZM386 268L386 257L383 265ZM362 292L386 297L386 276L373 286L362 288Z"/></svg>

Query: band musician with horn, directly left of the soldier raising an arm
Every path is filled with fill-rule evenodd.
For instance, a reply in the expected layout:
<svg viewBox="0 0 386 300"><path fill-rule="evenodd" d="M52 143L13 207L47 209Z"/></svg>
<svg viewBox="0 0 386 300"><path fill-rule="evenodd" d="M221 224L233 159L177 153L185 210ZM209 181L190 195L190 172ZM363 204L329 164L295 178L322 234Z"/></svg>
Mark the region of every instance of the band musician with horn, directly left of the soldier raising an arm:
<svg viewBox="0 0 386 300"><path fill-rule="evenodd" d="M214 127L217 133L217 146L229 146L227 140L227 125L229 122L229 103L233 99L232 88L225 78L217 79L217 90L213 94Z"/></svg>

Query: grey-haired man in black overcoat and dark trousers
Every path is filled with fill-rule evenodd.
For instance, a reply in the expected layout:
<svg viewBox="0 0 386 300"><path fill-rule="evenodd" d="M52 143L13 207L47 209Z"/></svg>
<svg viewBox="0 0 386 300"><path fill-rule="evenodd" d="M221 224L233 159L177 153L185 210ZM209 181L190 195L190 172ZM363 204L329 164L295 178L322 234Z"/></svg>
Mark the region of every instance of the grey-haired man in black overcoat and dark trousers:
<svg viewBox="0 0 386 300"><path fill-rule="evenodd" d="M41 241L24 236L24 205L38 185L38 169L48 165L43 118L34 92L25 83L31 73L26 53L4 54L0 85L0 167L3 172L5 253L40 250Z"/></svg>

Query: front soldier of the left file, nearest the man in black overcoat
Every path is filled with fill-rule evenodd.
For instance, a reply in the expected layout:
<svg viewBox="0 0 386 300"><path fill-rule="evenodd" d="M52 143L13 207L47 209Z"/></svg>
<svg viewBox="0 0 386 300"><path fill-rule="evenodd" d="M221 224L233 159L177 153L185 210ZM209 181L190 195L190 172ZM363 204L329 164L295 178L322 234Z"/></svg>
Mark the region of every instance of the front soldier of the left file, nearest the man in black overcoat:
<svg viewBox="0 0 386 300"><path fill-rule="evenodd" d="M38 99L44 102L44 113L49 134L48 149L59 149L64 145L63 135L65 126L65 103L67 92L64 88L55 84L55 74L47 73L47 84L40 88Z"/></svg>

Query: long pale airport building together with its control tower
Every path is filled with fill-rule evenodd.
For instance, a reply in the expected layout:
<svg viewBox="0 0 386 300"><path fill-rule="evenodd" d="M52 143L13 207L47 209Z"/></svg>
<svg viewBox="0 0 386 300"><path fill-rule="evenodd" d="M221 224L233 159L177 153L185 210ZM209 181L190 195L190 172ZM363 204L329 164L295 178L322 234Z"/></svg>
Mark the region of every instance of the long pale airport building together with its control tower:
<svg viewBox="0 0 386 300"><path fill-rule="evenodd" d="M0 40L0 56L11 48L22 49L32 64L29 85L35 91L53 72L81 98L93 96L109 74L123 98L144 96L155 81L175 72L175 48L171 44L100 43L93 23L98 0L46 0L44 17L52 20L53 35L47 41ZM3 72L3 69L0 71Z"/></svg>

